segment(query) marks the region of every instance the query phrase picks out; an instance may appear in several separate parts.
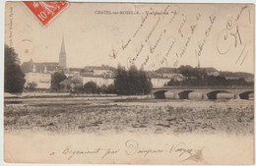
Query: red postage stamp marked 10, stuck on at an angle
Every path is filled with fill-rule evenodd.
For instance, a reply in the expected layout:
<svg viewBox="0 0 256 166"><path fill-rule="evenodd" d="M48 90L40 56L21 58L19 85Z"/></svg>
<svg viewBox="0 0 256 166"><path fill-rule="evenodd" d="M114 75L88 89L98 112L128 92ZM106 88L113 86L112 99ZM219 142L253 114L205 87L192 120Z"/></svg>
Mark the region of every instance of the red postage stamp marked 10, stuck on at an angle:
<svg viewBox="0 0 256 166"><path fill-rule="evenodd" d="M68 6L68 2L65 1L27 1L24 3L42 26L46 26Z"/></svg>

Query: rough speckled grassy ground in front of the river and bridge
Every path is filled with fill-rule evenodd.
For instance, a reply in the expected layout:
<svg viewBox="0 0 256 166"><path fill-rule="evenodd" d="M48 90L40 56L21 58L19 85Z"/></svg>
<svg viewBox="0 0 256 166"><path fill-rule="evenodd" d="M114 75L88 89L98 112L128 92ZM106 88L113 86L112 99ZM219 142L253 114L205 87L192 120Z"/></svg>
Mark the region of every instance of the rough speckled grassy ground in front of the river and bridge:
<svg viewBox="0 0 256 166"><path fill-rule="evenodd" d="M11 133L253 134L249 100L104 100L5 104Z"/></svg>

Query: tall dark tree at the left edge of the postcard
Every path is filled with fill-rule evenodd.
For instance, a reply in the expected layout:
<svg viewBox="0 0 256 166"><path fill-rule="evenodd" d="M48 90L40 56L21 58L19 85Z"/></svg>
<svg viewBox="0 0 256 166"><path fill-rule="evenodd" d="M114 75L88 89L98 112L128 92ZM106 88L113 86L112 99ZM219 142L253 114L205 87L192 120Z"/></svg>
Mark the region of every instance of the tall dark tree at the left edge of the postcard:
<svg viewBox="0 0 256 166"><path fill-rule="evenodd" d="M5 45L5 92L22 92L24 89L25 74L23 73L18 54L12 47Z"/></svg>

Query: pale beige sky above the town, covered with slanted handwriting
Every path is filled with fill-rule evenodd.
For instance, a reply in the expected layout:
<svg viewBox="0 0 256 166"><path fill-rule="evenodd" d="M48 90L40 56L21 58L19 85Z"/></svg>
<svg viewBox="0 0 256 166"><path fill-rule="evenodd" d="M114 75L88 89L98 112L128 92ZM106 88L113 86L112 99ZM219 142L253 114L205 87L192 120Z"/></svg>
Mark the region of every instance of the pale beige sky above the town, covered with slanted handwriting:
<svg viewBox="0 0 256 166"><path fill-rule="evenodd" d="M200 63L253 73L253 11L244 4L70 3L42 27L22 2L8 2L5 43L21 62L58 62L64 35L68 67L134 63L154 70Z"/></svg>

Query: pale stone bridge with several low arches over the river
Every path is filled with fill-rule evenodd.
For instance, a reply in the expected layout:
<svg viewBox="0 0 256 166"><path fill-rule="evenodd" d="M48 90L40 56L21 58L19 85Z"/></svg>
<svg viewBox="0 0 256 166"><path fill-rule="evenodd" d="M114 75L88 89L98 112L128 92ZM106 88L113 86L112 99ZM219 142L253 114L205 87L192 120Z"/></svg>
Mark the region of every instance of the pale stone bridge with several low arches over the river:
<svg viewBox="0 0 256 166"><path fill-rule="evenodd" d="M164 86L154 88L152 94L154 98L173 98L173 99L189 99L192 92L199 93L202 99L217 99L219 93L233 94L234 98L249 99L249 95L254 93L254 87L248 86Z"/></svg>

